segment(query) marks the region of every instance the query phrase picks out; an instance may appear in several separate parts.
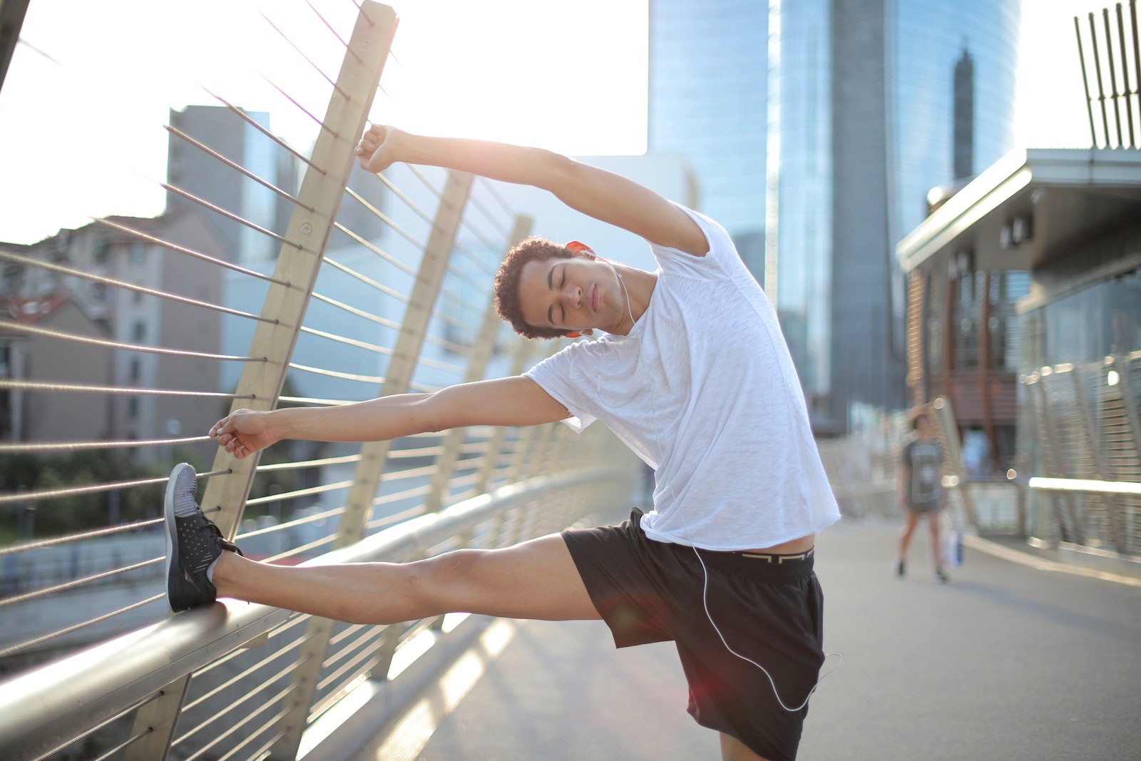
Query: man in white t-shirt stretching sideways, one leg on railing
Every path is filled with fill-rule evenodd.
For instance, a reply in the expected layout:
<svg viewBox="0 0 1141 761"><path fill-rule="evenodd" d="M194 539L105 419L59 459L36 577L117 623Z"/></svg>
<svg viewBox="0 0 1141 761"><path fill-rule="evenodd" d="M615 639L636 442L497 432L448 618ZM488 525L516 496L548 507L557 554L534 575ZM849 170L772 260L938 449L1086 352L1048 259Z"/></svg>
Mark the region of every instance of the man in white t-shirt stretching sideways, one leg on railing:
<svg viewBox="0 0 1141 761"><path fill-rule="evenodd" d="M523 375L346 406L237 411L210 436L242 459L284 438L370 442L464 426L601 420L655 470L654 509L620 526L408 564L250 561L168 487L171 607L216 596L355 623L448 612L604 620L618 647L671 640L689 713L722 759L794 759L824 659L816 534L840 517L776 313L713 220L617 175L539 148L372 127L362 167L444 167L550 191L646 240L656 272L531 238L495 278L528 338L591 335ZM596 331L599 333L596 335Z"/></svg>

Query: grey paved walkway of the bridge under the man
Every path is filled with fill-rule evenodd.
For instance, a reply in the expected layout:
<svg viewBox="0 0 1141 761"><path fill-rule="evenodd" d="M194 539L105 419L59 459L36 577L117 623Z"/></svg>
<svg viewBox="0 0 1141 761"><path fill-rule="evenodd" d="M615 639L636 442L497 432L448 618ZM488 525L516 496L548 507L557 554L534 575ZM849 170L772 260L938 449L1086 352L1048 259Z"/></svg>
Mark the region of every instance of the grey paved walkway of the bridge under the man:
<svg viewBox="0 0 1141 761"><path fill-rule="evenodd" d="M877 520L819 539L826 649L843 663L812 698L801 759L1141 758L1141 588L972 548L939 585L921 542L900 581L895 540ZM719 758L685 712L672 646L618 651L598 622L504 625L510 641L405 758Z"/></svg>

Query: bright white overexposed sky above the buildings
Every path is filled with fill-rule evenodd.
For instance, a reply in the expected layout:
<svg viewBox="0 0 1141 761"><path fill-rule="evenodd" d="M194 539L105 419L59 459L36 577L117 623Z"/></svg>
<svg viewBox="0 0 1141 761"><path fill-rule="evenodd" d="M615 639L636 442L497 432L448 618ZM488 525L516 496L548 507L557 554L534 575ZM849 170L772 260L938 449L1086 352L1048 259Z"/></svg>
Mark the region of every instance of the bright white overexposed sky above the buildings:
<svg viewBox="0 0 1141 761"><path fill-rule="evenodd" d="M649 0L391 0L400 23L373 118L405 129L542 145L646 149ZM343 34L351 0L311 0ZM1087 146L1073 16L1110 0L1023 0L1020 141ZM0 241L89 217L161 213L168 108L203 88L307 149L342 48L304 0L32 0L0 90ZM1062 104L1063 98L1069 100Z"/></svg>

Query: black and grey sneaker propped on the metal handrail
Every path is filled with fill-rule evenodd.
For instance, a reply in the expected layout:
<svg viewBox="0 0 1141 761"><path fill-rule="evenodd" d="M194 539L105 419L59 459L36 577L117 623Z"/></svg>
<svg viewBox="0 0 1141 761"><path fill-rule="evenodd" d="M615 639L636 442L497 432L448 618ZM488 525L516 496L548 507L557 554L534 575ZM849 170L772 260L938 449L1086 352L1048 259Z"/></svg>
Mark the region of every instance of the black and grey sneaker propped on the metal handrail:
<svg viewBox="0 0 1141 761"><path fill-rule="evenodd" d="M195 502L199 480L185 462L175 465L167 483L167 602L175 613L213 602L218 590L207 570L222 550L237 552Z"/></svg>

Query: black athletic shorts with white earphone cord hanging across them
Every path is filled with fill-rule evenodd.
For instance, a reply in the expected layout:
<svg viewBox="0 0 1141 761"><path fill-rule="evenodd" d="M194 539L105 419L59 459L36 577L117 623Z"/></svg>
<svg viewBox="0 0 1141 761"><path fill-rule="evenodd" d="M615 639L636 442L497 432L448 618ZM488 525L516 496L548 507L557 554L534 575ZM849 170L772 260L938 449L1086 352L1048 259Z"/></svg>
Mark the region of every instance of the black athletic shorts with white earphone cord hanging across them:
<svg viewBox="0 0 1141 761"><path fill-rule="evenodd" d="M648 539L640 518L634 510L620 526L563 532L614 643L673 641L697 723L771 761L795 759L808 706L786 711L780 702L804 703L824 663L824 594L812 553L695 551ZM709 569L709 615L697 552ZM764 672L729 648L768 670L779 702Z"/></svg>

